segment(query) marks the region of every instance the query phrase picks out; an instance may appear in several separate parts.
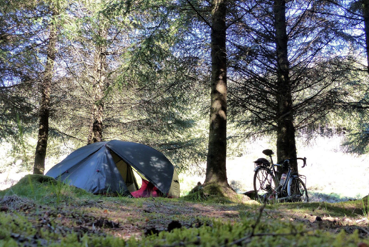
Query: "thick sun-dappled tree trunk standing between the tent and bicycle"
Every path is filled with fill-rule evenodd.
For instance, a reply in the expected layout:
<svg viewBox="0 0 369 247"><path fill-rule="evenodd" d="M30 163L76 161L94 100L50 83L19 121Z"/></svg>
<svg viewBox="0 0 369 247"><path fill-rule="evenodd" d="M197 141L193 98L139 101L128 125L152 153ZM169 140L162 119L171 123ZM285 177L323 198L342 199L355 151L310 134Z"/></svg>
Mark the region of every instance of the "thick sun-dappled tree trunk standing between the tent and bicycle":
<svg viewBox="0 0 369 247"><path fill-rule="evenodd" d="M206 165L207 182L227 184L226 0L214 0L211 29L211 106Z"/></svg>

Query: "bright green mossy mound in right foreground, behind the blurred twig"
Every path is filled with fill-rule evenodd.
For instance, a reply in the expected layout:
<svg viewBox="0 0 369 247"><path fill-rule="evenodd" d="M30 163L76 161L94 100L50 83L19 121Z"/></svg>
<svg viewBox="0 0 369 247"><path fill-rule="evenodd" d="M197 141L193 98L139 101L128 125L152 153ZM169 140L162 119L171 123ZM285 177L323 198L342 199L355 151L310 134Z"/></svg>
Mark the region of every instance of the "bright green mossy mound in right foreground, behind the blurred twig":
<svg viewBox="0 0 369 247"><path fill-rule="evenodd" d="M211 226L198 229L175 229L162 232L129 246L358 246L362 240L358 232L331 234L321 230L309 230L303 224L279 220L243 220L237 224L215 221Z"/></svg>

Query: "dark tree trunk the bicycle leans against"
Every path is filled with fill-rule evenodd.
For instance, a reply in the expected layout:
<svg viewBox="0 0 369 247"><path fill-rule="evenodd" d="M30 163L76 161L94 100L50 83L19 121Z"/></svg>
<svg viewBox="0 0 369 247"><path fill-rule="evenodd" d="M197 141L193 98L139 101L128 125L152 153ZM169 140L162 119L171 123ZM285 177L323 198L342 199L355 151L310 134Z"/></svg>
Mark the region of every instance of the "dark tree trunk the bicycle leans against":
<svg viewBox="0 0 369 247"><path fill-rule="evenodd" d="M295 128L293 125L293 107L286 32L286 0L274 3L276 52L277 52L277 161L296 158ZM297 162L291 166L297 172Z"/></svg>

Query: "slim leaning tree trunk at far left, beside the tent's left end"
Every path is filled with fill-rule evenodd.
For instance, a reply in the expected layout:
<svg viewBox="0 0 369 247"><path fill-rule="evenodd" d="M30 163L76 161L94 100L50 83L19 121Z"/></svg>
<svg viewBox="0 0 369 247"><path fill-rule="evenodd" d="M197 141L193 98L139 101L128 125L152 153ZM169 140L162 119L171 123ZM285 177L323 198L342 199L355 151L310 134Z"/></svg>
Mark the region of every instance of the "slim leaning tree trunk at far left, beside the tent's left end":
<svg viewBox="0 0 369 247"><path fill-rule="evenodd" d="M41 81L41 102L39 112L38 141L35 152L35 163L33 174L44 175L46 148L49 136L49 115L50 115L50 92L51 82L54 75L54 61L56 56L57 31L54 24L50 24L50 36L47 46L46 65Z"/></svg>

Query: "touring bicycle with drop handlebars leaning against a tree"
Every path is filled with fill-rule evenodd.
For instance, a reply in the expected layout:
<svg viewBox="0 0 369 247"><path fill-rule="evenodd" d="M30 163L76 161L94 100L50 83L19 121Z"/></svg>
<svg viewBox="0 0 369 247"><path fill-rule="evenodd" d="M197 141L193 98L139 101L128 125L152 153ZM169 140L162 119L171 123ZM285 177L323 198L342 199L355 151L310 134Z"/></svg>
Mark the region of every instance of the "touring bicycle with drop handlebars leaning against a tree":
<svg viewBox="0 0 369 247"><path fill-rule="evenodd" d="M306 189L306 176L297 172L292 172L290 160L286 159L281 164L274 164L272 159L273 151L263 150L263 154L270 157L270 161L265 158L259 158L255 162L254 169L254 191L255 197L259 202L308 202L309 196ZM304 161L306 166L306 157L296 158ZM275 167L288 167L287 174L282 174L281 179L277 178ZM303 180L305 180L305 183Z"/></svg>

